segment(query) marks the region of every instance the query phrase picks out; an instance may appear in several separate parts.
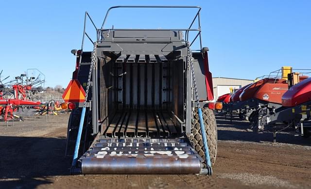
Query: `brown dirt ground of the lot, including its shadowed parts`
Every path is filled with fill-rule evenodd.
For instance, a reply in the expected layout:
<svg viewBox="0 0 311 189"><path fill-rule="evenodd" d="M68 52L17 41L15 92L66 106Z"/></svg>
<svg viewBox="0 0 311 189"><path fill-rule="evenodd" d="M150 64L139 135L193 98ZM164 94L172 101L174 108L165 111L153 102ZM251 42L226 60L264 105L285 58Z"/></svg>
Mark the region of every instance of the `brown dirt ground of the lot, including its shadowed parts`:
<svg viewBox="0 0 311 189"><path fill-rule="evenodd" d="M0 122L0 188L311 188L311 139L247 132L218 117L218 154L212 176L69 175L64 158L69 114Z"/></svg>

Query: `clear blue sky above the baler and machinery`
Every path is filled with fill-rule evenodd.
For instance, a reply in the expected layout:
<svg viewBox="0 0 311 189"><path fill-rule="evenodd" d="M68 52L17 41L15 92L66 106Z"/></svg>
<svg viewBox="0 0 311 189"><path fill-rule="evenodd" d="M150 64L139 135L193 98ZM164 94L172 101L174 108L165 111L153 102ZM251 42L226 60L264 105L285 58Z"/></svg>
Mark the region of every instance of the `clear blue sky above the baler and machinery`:
<svg viewBox="0 0 311 189"><path fill-rule="evenodd" d="M311 68L310 0L29 0L0 6L0 70L11 78L37 68L46 86L66 87L74 69L71 49L81 47L84 12L100 27L114 5L201 6L203 46L209 47L213 77L255 79L284 65ZM132 16L139 16L134 23ZM165 15L165 16L164 16ZM188 26L184 11L112 13L115 27ZM148 18L149 17L149 18ZM121 25L123 21L123 25Z"/></svg>

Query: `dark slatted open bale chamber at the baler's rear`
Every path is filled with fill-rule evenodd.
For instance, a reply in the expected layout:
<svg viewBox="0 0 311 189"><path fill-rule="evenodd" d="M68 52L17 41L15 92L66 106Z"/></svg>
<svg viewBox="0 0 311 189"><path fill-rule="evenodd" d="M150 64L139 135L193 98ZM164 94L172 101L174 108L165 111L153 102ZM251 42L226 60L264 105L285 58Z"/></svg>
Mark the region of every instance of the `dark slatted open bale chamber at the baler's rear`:
<svg viewBox="0 0 311 189"><path fill-rule="evenodd" d="M101 99L107 95L107 102L101 101L100 106L101 120L107 120L102 126L105 137L182 136L185 101L182 59L126 55L115 60L105 57L102 63L100 93Z"/></svg>

